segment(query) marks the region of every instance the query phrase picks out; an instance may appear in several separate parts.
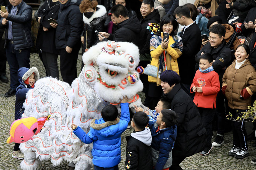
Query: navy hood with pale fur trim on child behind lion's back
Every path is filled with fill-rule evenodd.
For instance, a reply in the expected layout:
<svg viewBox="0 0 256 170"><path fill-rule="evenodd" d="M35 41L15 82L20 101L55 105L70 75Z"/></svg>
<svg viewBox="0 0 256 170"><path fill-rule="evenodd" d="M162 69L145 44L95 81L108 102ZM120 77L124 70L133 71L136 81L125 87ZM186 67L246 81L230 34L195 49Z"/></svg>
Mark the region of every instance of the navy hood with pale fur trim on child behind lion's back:
<svg viewBox="0 0 256 170"><path fill-rule="evenodd" d="M18 80L19 83L24 85L26 87L26 84L24 84L24 81L26 79L28 79L28 77L34 73L35 74L35 81L37 81L39 79L39 72L37 70L36 67L31 67L30 69L26 68L26 67L21 67L18 70Z"/></svg>

